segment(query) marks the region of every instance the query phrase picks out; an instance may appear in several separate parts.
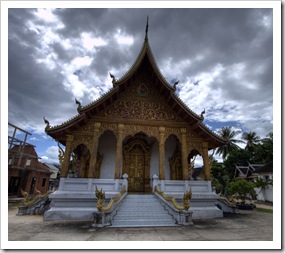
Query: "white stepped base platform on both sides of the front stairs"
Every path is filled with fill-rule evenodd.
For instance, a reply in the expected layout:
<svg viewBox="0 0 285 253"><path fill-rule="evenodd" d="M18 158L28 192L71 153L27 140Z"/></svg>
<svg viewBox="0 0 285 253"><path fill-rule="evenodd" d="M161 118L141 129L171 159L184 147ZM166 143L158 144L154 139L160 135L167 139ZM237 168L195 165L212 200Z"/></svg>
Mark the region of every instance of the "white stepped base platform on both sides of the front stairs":
<svg viewBox="0 0 285 253"><path fill-rule="evenodd" d="M51 208L44 213L44 220L92 221L94 212L98 211L96 187L105 192L105 204L108 204L109 200L117 196L124 186L127 189L127 185L127 179L61 178L59 189L49 196ZM182 203L184 192L191 188L192 199L189 211L192 212L193 220L223 217L223 211L216 206L219 196L212 192L210 181L173 181L153 178L151 185L152 189L158 186L160 191L174 197L178 203Z"/></svg>

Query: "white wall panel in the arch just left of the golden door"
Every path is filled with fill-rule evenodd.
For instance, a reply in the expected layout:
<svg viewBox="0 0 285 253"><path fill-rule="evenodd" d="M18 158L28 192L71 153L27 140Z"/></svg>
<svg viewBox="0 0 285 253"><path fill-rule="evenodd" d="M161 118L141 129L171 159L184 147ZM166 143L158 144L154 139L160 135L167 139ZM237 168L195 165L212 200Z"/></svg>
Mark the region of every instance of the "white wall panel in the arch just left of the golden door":
<svg viewBox="0 0 285 253"><path fill-rule="evenodd" d="M100 179L114 178L116 136L112 132L107 131L100 137L98 151L104 155L101 164Z"/></svg>

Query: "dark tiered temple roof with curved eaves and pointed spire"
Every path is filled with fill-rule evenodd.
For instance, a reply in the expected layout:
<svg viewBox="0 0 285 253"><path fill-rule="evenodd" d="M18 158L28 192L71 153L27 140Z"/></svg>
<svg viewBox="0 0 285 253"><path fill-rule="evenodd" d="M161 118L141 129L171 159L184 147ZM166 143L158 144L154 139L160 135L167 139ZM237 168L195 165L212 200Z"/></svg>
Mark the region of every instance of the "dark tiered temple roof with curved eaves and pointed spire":
<svg viewBox="0 0 285 253"><path fill-rule="evenodd" d="M170 85L161 71L159 70L155 58L152 54L149 42L148 42L148 24L146 28L145 40L142 48L129 71L127 71L118 80L113 79L113 88L110 89L103 96L95 100L94 102L80 106L78 108L79 114L72 119L57 126L47 126L46 133L55 139L62 134L68 134L79 127L86 124L88 119L94 118L99 112L106 109L107 106L112 104L118 99L119 95L123 93L131 84L132 81L141 73L145 71L150 75L152 85L159 91L159 93L165 98L167 104L175 111L185 122L187 122L191 128L198 133L199 136L207 138L209 148L222 146L226 141L219 135L211 131L205 124L202 123L203 116L193 112L176 94L175 86ZM64 144L64 143L63 143Z"/></svg>

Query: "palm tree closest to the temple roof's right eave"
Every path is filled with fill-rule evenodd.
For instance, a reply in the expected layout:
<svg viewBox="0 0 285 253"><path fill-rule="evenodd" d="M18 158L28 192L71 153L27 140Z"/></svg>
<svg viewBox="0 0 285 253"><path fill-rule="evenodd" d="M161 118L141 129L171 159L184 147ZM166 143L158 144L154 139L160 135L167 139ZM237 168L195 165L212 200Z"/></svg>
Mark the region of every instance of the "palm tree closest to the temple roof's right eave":
<svg viewBox="0 0 285 253"><path fill-rule="evenodd" d="M241 131L234 131L231 127L222 127L218 130L218 134L227 141L224 146L216 150L216 154L222 155L223 160L226 159L230 152L240 148L236 143L243 143L243 141L234 139L234 137L240 133Z"/></svg>

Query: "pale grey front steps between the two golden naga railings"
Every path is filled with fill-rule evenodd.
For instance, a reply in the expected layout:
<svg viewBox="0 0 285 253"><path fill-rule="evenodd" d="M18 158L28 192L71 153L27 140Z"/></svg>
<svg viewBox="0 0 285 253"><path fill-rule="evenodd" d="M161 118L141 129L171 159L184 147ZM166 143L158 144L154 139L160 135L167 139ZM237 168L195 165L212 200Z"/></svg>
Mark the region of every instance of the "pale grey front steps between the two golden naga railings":
<svg viewBox="0 0 285 253"><path fill-rule="evenodd" d="M112 221L112 227L161 226L176 226L176 221L154 195L128 194Z"/></svg>

